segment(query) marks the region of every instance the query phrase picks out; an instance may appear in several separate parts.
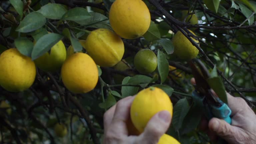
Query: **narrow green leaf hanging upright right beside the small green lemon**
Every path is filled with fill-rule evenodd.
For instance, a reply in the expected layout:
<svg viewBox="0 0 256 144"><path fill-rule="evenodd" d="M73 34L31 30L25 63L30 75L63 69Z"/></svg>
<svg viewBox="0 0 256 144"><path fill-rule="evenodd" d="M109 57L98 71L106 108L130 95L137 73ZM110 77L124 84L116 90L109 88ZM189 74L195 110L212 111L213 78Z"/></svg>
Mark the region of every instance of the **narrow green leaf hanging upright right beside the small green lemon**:
<svg viewBox="0 0 256 144"><path fill-rule="evenodd" d="M157 52L157 68L160 75L161 83L163 83L166 80L169 73L169 63L164 53L161 52L159 49Z"/></svg>

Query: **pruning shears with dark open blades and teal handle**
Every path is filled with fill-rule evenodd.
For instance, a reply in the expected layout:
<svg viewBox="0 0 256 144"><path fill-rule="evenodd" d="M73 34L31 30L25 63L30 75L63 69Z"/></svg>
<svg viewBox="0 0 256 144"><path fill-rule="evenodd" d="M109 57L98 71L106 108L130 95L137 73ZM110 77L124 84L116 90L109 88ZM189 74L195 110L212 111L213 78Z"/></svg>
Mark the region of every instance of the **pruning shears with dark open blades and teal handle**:
<svg viewBox="0 0 256 144"><path fill-rule="evenodd" d="M189 61L192 74L195 78L195 90L192 92L192 97L197 106L203 111L205 117L210 120L213 117L225 120L231 124L231 109L217 95L214 95L207 79L210 78L210 73L205 65L199 60ZM199 69L197 68L197 66ZM219 140L218 143L226 143L224 140Z"/></svg>

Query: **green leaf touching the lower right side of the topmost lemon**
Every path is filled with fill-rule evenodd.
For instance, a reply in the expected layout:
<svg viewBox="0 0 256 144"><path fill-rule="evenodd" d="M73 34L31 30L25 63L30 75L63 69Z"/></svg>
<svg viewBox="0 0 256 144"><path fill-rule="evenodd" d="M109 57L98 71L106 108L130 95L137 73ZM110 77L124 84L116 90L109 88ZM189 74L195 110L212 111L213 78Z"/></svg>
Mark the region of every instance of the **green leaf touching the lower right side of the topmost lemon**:
<svg viewBox="0 0 256 144"><path fill-rule="evenodd" d="M143 35L147 41L155 41L161 38L157 25L151 21L148 31Z"/></svg>

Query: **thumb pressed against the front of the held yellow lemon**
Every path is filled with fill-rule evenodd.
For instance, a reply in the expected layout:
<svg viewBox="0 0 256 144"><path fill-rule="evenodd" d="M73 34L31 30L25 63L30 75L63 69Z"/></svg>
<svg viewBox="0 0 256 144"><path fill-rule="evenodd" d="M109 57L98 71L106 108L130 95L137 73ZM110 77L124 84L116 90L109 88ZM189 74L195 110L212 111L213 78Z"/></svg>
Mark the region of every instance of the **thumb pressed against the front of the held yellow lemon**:
<svg viewBox="0 0 256 144"><path fill-rule="evenodd" d="M171 123L169 111L161 111L155 114L147 123L144 132L140 135L140 143L157 144L160 137L167 131Z"/></svg>

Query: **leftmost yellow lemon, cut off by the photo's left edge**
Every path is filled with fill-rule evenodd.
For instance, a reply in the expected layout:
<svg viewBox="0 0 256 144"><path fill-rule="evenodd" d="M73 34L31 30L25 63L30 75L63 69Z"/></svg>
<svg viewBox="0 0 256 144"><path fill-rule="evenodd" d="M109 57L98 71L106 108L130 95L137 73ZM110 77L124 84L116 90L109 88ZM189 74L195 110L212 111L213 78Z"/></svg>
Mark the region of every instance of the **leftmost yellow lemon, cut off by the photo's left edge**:
<svg viewBox="0 0 256 144"><path fill-rule="evenodd" d="M0 85L7 91L24 91L33 84L35 77L35 63L17 49L8 49L0 55Z"/></svg>

